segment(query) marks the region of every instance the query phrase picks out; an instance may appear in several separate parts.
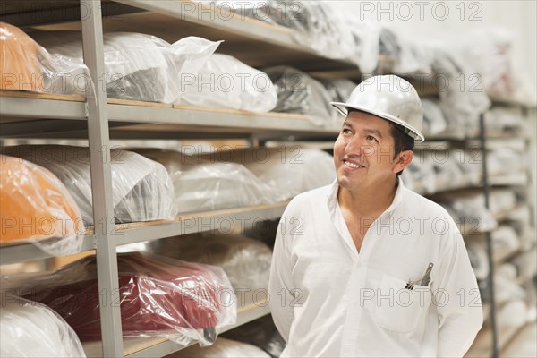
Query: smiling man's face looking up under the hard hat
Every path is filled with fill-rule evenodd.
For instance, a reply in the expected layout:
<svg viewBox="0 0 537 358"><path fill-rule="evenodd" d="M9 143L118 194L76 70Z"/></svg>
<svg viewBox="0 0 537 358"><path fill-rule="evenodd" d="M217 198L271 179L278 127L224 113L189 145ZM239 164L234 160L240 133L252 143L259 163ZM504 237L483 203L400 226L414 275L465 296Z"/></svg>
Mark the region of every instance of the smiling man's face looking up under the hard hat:
<svg viewBox="0 0 537 358"><path fill-rule="evenodd" d="M394 153L388 121L351 112L334 144L337 183L349 191L386 183L400 171Z"/></svg>

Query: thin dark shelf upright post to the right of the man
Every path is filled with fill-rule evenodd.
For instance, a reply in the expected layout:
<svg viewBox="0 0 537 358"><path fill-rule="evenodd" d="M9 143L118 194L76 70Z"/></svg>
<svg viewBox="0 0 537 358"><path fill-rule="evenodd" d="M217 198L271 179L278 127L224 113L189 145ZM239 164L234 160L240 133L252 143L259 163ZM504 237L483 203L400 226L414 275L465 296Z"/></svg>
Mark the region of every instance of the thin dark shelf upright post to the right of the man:
<svg viewBox="0 0 537 358"><path fill-rule="evenodd" d="M483 193L485 196L485 207L490 209L489 195L489 172L487 166L487 146L485 133L485 115L479 115L479 139L482 149L482 181ZM489 277L487 277L490 292L490 326L492 330L492 358L498 358L498 329L496 326L496 300L494 298L494 255L492 252L492 236L490 231L486 234L487 239L487 256L489 258Z"/></svg>

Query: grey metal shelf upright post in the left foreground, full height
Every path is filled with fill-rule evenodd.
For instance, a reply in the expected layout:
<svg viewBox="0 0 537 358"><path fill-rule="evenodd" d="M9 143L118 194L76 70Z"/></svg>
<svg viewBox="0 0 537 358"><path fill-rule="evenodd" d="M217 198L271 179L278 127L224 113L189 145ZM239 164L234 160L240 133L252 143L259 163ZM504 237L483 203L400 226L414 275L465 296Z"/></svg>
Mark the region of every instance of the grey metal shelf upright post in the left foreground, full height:
<svg viewBox="0 0 537 358"><path fill-rule="evenodd" d="M113 237L114 204L100 6L100 0L81 0L81 24L84 63L90 69L92 81L86 98L103 356L120 357L123 356L123 339Z"/></svg>

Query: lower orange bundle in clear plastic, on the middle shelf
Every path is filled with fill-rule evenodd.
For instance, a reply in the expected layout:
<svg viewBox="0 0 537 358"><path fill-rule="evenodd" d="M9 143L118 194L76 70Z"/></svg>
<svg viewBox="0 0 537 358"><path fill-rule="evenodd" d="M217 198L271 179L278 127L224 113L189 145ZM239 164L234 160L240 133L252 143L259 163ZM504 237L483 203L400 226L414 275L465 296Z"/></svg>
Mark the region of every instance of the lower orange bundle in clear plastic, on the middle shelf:
<svg viewBox="0 0 537 358"><path fill-rule="evenodd" d="M55 256L81 251L81 211L42 166L0 155L0 243L30 242Z"/></svg>

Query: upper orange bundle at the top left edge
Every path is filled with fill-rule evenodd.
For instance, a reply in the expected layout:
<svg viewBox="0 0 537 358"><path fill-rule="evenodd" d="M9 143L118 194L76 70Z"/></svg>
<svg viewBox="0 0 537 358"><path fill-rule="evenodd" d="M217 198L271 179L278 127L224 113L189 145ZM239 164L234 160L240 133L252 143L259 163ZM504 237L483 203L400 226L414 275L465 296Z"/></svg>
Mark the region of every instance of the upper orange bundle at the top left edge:
<svg viewBox="0 0 537 358"><path fill-rule="evenodd" d="M0 22L0 89L42 92L39 45L16 26Z"/></svg>

